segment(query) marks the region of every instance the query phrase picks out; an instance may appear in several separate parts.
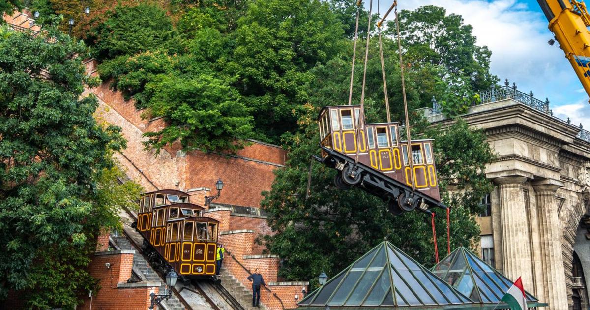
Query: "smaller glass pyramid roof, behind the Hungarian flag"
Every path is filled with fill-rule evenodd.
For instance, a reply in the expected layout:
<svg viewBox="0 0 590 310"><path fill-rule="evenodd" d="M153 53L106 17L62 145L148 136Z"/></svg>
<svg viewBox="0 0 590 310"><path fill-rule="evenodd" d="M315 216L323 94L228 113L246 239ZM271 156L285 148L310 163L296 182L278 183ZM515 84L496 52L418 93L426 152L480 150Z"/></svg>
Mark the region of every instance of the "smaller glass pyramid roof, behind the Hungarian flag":
<svg viewBox="0 0 590 310"><path fill-rule="evenodd" d="M500 302L504 293L514 284L464 247L459 247L442 259L432 267L432 272L474 302L483 304ZM526 292L526 301L529 306L541 305L529 292Z"/></svg>

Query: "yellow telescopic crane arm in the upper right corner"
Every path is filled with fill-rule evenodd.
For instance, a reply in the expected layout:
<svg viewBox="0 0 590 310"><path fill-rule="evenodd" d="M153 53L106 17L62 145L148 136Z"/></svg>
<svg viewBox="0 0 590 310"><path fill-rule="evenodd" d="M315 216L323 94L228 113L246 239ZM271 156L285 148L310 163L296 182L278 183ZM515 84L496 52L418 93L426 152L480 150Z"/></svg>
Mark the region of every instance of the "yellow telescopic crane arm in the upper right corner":
<svg viewBox="0 0 590 310"><path fill-rule="evenodd" d="M590 96L590 14L584 2L537 0L559 46Z"/></svg>

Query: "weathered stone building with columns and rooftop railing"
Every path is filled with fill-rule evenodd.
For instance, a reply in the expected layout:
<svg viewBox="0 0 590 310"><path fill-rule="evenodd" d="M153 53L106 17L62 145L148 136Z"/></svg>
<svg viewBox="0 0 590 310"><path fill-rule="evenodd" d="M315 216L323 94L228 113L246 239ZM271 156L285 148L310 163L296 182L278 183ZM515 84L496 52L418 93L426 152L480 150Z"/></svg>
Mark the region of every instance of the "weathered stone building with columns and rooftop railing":
<svg viewBox="0 0 590 310"><path fill-rule="evenodd" d="M480 255L550 309L587 309L590 285L590 132L556 118L516 87L481 93L462 116L497 158L486 168ZM423 109L433 125L453 120Z"/></svg>

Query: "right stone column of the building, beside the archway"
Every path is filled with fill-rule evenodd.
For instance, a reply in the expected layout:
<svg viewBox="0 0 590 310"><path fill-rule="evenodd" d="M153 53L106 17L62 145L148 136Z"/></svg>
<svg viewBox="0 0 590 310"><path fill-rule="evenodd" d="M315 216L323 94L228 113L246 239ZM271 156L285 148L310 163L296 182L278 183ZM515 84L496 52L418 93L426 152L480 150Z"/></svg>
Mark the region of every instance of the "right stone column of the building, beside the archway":
<svg viewBox="0 0 590 310"><path fill-rule="evenodd" d="M537 215L539 218L541 264L543 278L537 279L545 291L549 309L568 309L565 270L561 248L562 234L557 213L558 205L555 192L560 187L559 181L544 180L533 184L537 198Z"/></svg>

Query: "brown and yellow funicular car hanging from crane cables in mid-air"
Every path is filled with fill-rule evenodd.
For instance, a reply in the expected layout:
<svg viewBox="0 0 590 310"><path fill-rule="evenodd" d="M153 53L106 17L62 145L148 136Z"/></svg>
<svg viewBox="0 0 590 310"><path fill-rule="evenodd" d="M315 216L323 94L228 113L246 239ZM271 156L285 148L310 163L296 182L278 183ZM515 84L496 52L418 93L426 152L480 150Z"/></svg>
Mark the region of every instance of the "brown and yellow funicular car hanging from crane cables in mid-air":
<svg viewBox="0 0 590 310"><path fill-rule="evenodd" d="M327 106L317 118L322 156L315 159L339 170L336 186L376 195L388 201L394 214L417 207L446 208L438 192L433 141L412 140L409 153L407 141L399 139L398 122L366 124L359 122L360 115L358 105ZM356 128L359 123L362 129Z"/></svg>

